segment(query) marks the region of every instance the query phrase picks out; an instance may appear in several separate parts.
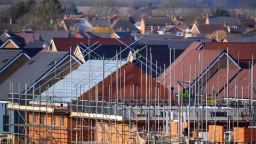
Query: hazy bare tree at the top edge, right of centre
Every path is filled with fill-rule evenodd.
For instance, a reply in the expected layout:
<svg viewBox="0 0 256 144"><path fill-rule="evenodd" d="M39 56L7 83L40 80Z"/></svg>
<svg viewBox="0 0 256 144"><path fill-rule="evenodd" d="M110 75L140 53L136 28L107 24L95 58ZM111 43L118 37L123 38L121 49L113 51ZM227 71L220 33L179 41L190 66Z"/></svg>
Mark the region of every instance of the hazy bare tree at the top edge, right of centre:
<svg viewBox="0 0 256 144"><path fill-rule="evenodd" d="M159 4L158 10L169 16L177 15L181 3L182 0L165 0L162 4Z"/></svg>

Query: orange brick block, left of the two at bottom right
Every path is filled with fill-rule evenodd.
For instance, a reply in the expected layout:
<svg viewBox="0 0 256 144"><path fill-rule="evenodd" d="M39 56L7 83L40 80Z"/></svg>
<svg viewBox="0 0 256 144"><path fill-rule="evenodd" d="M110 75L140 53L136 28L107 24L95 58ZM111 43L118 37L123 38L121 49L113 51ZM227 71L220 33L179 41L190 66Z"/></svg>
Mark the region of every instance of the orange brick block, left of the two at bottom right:
<svg viewBox="0 0 256 144"><path fill-rule="evenodd" d="M216 127L214 125L209 125L209 140L210 141L214 141L214 130L216 128L215 131L215 141L217 142L223 142L224 141L224 126L222 125L216 125Z"/></svg>

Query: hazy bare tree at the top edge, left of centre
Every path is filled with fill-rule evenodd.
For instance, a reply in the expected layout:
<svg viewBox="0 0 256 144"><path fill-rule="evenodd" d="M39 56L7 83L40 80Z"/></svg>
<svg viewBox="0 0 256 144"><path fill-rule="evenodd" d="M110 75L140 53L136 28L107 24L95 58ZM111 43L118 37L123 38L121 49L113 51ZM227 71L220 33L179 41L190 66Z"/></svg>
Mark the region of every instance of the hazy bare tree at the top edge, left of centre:
<svg viewBox="0 0 256 144"><path fill-rule="evenodd" d="M117 13L117 4L115 0L95 0L90 13L97 14L99 17L107 17Z"/></svg>

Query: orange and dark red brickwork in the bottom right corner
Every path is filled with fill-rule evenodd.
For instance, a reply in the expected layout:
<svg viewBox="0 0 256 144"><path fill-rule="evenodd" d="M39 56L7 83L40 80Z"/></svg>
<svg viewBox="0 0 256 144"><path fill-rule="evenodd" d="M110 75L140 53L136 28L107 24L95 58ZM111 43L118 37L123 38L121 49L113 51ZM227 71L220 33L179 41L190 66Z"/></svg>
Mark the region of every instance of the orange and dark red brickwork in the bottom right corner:
<svg viewBox="0 0 256 144"><path fill-rule="evenodd" d="M251 142L252 129L248 127L234 127L234 142ZM238 139L238 140L237 140ZM253 128L253 141L256 141L256 128Z"/></svg>

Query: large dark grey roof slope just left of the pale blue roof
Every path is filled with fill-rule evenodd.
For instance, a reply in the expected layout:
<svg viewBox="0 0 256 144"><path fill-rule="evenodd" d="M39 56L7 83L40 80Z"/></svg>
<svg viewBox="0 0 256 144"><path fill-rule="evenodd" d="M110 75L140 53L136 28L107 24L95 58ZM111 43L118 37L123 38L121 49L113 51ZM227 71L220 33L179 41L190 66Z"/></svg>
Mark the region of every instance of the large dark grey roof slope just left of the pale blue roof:
<svg viewBox="0 0 256 144"><path fill-rule="evenodd" d="M59 63L63 58L67 57L69 52L39 52L34 58L30 59L25 65L18 69L5 82L0 85L0 100L6 100L7 90L10 89L10 83L13 83L13 92L18 93L25 90L25 84L30 86L34 82L42 78L50 69L54 67L53 61ZM21 92L20 91L20 92Z"/></svg>

